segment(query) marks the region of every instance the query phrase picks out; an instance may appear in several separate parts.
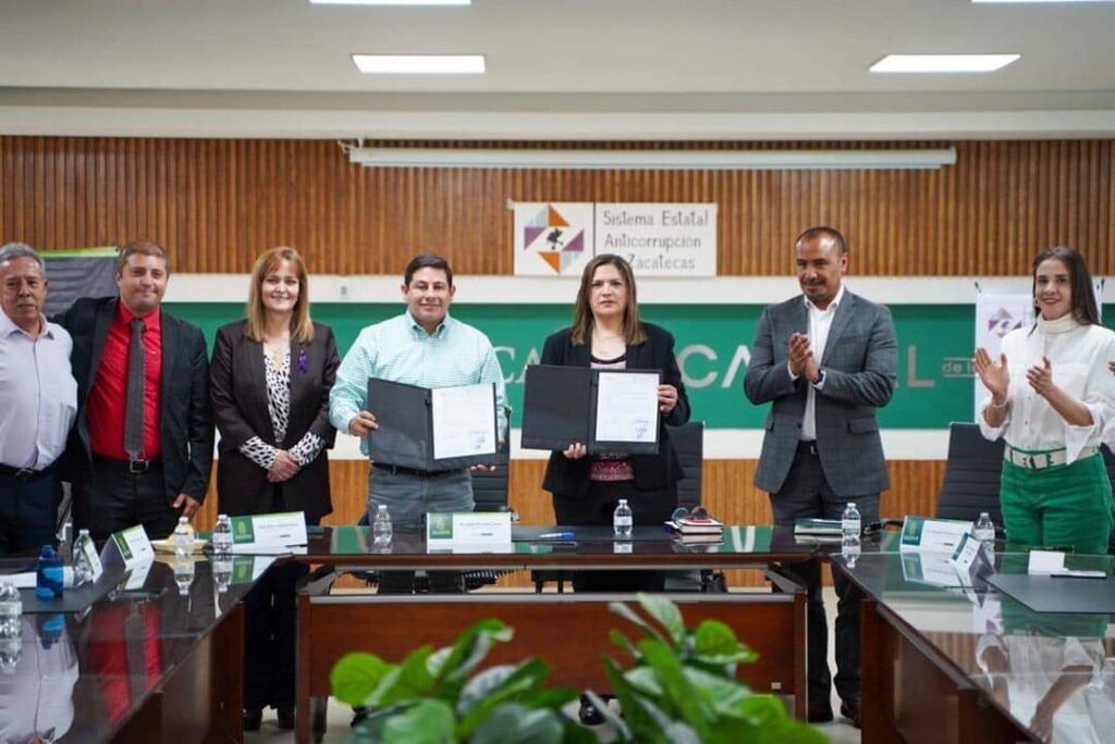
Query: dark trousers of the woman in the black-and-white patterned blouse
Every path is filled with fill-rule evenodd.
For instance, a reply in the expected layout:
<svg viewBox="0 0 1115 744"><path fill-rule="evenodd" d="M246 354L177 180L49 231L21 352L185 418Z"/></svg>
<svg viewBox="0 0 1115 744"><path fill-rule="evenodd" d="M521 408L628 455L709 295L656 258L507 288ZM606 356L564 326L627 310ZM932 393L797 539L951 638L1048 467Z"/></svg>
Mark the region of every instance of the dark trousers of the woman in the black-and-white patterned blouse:
<svg viewBox="0 0 1115 744"><path fill-rule="evenodd" d="M287 511L279 486L271 511ZM244 597L245 708L294 707L298 581L309 571L295 562L271 566Z"/></svg>

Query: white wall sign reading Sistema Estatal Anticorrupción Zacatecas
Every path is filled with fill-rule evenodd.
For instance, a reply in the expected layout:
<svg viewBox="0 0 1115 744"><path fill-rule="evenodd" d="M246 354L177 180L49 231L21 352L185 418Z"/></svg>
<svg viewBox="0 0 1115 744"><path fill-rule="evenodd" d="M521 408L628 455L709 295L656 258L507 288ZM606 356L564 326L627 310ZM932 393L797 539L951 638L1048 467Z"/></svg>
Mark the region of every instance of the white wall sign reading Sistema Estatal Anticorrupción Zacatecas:
<svg viewBox="0 0 1115 744"><path fill-rule="evenodd" d="M594 255L615 253L643 276L716 276L716 204L514 205L515 274L579 276Z"/></svg>

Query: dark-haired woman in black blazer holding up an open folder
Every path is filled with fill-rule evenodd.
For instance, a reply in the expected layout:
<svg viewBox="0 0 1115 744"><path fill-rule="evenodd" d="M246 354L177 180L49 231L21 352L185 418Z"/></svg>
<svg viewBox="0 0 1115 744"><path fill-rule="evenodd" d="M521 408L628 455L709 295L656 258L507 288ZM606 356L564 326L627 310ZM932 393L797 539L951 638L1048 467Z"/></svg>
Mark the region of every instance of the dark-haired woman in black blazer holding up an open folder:
<svg viewBox="0 0 1115 744"><path fill-rule="evenodd" d="M634 275L627 261L603 254L589 262L573 325L546 339L542 363L662 372L658 452L589 456L584 442L571 442L550 456L542 488L553 495L558 523L611 526L620 499L628 500L636 525L669 519L682 471L666 424L689 420L689 399L673 358L673 336L639 320ZM660 591L662 584L661 571L579 571L573 578L576 591Z"/></svg>

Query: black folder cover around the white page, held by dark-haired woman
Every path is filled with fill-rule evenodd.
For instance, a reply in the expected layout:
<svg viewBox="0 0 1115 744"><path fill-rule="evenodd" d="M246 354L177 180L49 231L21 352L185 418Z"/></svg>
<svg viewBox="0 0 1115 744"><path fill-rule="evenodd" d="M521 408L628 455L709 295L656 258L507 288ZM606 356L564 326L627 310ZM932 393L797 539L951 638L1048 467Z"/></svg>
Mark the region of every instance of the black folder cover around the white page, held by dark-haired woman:
<svg viewBox="0 0 1115 744"><path fill-rule="evenodd" d="M564 450L582 442L589 452L648 453L658 451L658 415L649 425L650 442L615 442L597 438L597 403L603 374L655 374L658 370L593 370L586 366L532 364L523 392L523 437L527 449ZM657 411L657 407L656 407Z"/></svg>

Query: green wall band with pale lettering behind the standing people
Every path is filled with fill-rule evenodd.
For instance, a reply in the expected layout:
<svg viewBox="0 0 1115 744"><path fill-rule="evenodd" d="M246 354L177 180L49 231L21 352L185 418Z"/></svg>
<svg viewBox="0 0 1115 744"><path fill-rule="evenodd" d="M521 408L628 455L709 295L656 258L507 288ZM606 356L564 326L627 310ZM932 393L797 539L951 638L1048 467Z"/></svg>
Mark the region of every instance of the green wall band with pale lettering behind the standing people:
<svg viewBox="0 0 1115 744"><path fill-rule="evenodd" d="M167 310L202 327L212 345L216 329L240 317L241 303L166 303ZM365 325L403 312L403 304L316 303L314 320L337 334L343 354ZM671 331L683 372L694 384L689 401L694 417L711 428L756 429L766 407L750 405L743 393L743 375L760 305L644 305L644 320ZM975 343L973 305L892 305L899 337L899 386L894 400L880 413L889 429L940 429L950 421L971 419L970 358ZM515 410L523 397L523 369L536 362L546 335L571 321L565 305L460 304L455 317L476 325L492 339L508 381ZM1115 305L1104 307L1111 326Z"/></svg>

